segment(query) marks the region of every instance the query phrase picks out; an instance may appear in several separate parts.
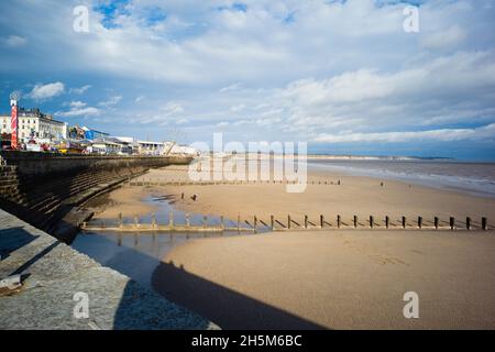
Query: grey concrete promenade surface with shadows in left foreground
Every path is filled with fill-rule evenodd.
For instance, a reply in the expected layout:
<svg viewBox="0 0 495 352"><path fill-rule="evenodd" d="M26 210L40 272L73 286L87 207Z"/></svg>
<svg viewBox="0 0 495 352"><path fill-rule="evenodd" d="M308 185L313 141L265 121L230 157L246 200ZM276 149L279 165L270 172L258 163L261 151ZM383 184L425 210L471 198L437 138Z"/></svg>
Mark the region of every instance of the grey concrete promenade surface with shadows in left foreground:
<svg viewBox="0 0 495 352"><path fill-rule="evenodd" d="M23 279L0 295L0 330L218 328L3 210L0 254L0 278ZM74 316L77 293L89 298L88 318Z"/></svg>

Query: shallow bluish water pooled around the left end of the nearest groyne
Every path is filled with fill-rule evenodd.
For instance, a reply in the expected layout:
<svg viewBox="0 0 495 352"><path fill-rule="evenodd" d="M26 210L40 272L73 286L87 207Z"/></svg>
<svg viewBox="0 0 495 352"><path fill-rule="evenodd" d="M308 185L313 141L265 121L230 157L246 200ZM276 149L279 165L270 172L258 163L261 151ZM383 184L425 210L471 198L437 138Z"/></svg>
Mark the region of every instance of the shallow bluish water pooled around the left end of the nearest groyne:
<svg viewBox="0 0 495 352"><path fill-rule="evenodd" d="M156 222L168 223L170 211L175 223L184 223L186 213L174 210L166 196L151 196L143 200L157 206ZM152 215L139 218L140 222L151 223ZM190 213L190 224L202 224L204 215ZM123 218L124 223L132 223L134 218ZM98 222L98 220L96 220ZM110 224L110 221L106 222ZM235 227L237 222L226 219L226 227ZM220 217L208 216L208 224L220 224ZM248 227L245 223L242 227ZM260 233L267 229L260 229ZM79 233L72 246L92 257L101 265L111 267L128 275L142 285L151 287L151 278L161 260L176 245L191 239L219 238L232 235L253 235L250 232L146 232L146 233L113 233L85 232Z"/></svg>

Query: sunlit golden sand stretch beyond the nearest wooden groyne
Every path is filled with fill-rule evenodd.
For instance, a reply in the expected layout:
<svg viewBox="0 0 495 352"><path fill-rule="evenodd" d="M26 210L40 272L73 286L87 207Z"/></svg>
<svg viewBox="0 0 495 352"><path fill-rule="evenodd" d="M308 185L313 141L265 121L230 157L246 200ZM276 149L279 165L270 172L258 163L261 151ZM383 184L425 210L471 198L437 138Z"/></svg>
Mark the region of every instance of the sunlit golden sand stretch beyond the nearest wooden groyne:
<svg viewBox="0 0 495 352"><path fill-rule="evenodd" d="M172 170L153 169L136 180L140 179L184 182L187 180L187 173L177 167ZM340 185L337 185L339 180ZM287 193L285 185L279 184L124 186L110 194L113 207L97 209L97 217L117 218L119 211L124 216L154 211L152 206L140 204L143 197L152 194L172 197L174 207L178 210L224 216L232 220L237 219L238 215L243 219L256 216L265 221L271 215L284 221L287 215L290 215L295 220L301 221L307 215L314 222L320 215L324 215L329 221L334 221L337 215L340 215L346 222L354 215L362 221L372 215L378 222L382 222L385 216L394 220L406 216L410 221L416 221L418 216L424 217L425 221L431 221L436 216L443 221L448 221L449 217L461 221L465 221L466 217L472 217L474 221L480 221L481 217L495 219L493 198L328 172L309 172L308 182L306 190L298 194ZM185 195L184 199L180 197L182 193ZM197 196L196 200L190 198L193 195Z"/></svg>

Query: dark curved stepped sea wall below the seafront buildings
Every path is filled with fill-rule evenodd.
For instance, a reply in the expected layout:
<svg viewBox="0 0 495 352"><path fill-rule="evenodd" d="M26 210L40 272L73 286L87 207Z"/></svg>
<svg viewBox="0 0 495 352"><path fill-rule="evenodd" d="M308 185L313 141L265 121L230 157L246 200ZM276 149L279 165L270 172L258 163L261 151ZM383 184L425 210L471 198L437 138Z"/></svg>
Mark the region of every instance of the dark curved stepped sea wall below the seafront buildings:
<svg viewBox="0 0 495 352"><path fill-rule="evenodd" d="M92 215L79 209L150 168L188 164L191 157L63 155L3 152L0 207L56 238L72 242Z"/></svg>

